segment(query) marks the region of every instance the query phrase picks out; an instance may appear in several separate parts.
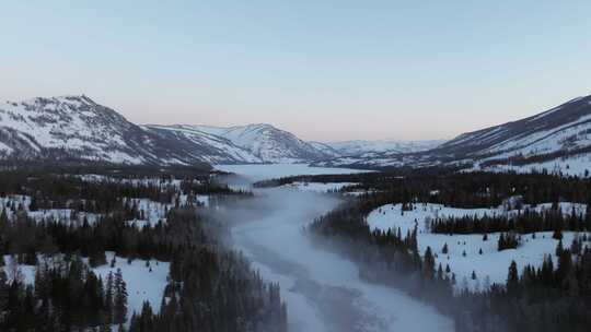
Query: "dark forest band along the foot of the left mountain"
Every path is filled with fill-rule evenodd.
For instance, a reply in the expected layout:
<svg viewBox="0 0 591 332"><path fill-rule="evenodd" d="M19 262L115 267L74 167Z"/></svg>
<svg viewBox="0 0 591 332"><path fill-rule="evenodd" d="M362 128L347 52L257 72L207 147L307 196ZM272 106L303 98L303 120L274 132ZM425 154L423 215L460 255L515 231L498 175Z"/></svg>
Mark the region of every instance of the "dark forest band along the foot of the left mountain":
<svg viewBox="0 0 591 332"><path fill-rule="evenodd" d="M109 176L31 174L24 170L0 171L0 197L30 195L31 211L72 209L91 213L108 213L120 209L124 198L149 199L178 205L181 194L196 202L195 195L245 194L218 183L209 176L193 175L175 179L172 175L155 178L127 178L125 174Z"/></svg>

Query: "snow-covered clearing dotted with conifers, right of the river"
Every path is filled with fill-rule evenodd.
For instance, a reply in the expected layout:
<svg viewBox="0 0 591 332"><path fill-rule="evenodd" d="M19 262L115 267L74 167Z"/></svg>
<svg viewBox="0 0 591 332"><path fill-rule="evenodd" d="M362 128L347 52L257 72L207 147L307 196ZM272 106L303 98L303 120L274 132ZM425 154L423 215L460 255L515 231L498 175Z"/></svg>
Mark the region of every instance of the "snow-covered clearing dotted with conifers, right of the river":
<svg viewBox="0 0 591 332"><path fill-rule="evenodd" d="M535 210L549 209L552 204L538 204ZM517 249L498 251L497 241L499 234L488 234L488 240L483 240L483 235L444 235L432 234L428 229L426 221L436 218L445 218L451 216L483 216L494 214L511 214L517 211L505 211L503 208L497 209L455 209L440 204L417 203L415 210L402 212L402 204L387 204L373 210L367 218L368 225L372 229L387 230L391 228L396 232L399 227L403 236L407 232L413 232L415 225L418 229L418 247L421 253L427 247L431 247L433 253L437 253L436 261L441 263L443 269L449 264L451 272L456 275L457 288L478 289L489 286L491 283L505 283L507 273L512 260L521 269L525 264L540 266L544 256L552 254L554 262L557 262L555 249L558 240L552 238L552 232L536 233L535 238L532 235L523 235L522 245ZM577 213L583 213L584 204L560 203L564 213L570 213L575 208ZM568 248L575 237L572 232L564 232L563 245ZM442 248L448 245L449 252L443 254ZM589 244L591 246L591 244ZM483 253L479 254L479 250ZM463 254L465 252L465 256ZM477 278L472 280L472 272L476 273Z"/></svg>

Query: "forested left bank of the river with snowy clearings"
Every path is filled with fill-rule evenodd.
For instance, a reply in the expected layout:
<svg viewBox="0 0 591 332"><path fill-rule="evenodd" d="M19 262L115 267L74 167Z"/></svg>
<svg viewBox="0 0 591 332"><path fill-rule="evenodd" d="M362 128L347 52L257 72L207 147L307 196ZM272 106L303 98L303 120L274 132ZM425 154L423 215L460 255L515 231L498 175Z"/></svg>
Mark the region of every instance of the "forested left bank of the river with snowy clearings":
<svg viewBox="0 0 591 332"><path fill-rule="evenodd" d="M286 331L278 286L206 212L248 192L160 169L0 183L2 331Z"/></svg>

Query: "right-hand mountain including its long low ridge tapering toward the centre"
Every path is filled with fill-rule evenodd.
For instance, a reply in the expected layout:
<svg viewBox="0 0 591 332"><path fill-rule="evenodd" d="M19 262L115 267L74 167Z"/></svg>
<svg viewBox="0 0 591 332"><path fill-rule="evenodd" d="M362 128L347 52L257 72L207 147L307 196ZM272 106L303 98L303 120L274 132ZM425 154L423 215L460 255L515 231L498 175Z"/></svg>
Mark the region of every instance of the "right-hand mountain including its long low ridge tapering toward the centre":
<svg viewBox="0 0 591 332"><path fill-rule="evenodd" d="M370 152L317 163L323 166L455 165L488 170L591 170L591 96L579 97L538 115L463 133L422 152ZM576 165L571 168L571 165Z"/></svg>

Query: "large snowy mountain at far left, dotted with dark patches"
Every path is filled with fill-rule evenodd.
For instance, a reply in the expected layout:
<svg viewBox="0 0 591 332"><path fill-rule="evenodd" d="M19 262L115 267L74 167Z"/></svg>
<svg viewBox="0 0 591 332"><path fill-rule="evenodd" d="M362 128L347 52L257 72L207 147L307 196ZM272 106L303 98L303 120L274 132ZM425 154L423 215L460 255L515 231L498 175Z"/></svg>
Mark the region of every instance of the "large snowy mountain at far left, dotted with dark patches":
<svg viewBox="0 0 591 332"><path fill-rule="evenodd" d="M51 162L202 165L157 135L86 96L34 98L0 104L0 156Z"/></svg>

